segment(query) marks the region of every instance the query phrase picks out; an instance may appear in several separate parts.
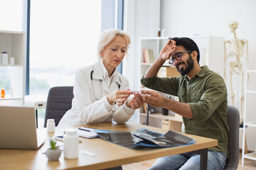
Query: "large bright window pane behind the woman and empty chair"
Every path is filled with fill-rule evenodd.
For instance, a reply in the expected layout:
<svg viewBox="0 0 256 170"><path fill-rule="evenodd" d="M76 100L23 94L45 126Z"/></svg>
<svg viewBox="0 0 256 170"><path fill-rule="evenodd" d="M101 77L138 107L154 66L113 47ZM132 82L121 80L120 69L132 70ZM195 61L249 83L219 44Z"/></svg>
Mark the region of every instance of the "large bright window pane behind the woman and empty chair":
<svg viewBox="0 0 256 170"><path fill-rule="evenodd" d="M29 94L73 86L75 72L97 61L101 1L31 1Z"/></svg>

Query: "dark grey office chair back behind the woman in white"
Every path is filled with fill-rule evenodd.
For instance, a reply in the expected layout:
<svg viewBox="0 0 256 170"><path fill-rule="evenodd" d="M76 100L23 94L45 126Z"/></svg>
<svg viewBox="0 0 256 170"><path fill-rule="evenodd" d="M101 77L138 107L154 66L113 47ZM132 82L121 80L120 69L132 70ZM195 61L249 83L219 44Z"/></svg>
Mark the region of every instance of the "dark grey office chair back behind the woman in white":
<svg viewBox="0 0 256 170"><path fill-rule="evenodd" d="M50 89L46 102L45 128L47 119L54 119L55 126L58 125L63 115L71 108L73 98L73 86L55 86Z"/></svg>

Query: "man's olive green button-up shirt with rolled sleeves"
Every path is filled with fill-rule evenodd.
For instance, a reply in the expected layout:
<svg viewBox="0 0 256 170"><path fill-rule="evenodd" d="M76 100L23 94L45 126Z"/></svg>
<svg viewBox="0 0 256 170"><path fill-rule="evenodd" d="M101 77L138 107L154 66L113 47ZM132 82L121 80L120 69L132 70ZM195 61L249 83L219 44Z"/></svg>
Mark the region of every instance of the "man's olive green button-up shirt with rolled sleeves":
<svg viewBox="0 0 256 170"><path fill-rule="evenodd" d="M141 82L149 89L178 96L179 101L188 103L194 118L183 117L185 132L218 140L218 146L209 150L228 155L228 94L219 74L204 66L191 80L187 76L151 77L142 78Z"/></svg>

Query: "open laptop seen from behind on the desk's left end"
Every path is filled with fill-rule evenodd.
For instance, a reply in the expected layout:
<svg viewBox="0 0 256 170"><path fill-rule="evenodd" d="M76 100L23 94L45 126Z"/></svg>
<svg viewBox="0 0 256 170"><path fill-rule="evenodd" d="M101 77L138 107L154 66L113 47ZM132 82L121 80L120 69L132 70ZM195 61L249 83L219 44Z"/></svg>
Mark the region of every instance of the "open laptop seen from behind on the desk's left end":
<svg viewBox="0 0 256 170"><path fill-rule="evenodd" d="M38 149L47 134L36 131L35 108L0 106L0 149Z"/></svg>

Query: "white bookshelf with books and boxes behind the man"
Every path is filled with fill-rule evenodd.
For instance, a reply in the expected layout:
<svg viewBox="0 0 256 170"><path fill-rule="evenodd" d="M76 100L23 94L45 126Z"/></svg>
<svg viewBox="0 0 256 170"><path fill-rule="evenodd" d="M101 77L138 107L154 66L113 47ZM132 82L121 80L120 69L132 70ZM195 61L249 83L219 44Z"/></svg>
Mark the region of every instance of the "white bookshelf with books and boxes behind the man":
<svg viewBox="0 0 256 170"><path fill-rule="evenodd" d="M220 63L224 62L224 47L223 47L223 37L216 37L216 36L193 36L191 37L192 40L196 42L198 45L198 48L200 50L200 65L208 65L209 69L218 72L221 76L223 76L223 66L220 66ZM139 38L139 79L142 78L143 74L146 72L147 69L151 66L151 63L145 63L144 57L143 57L143 50L144 49L152 49L154 52L154 58L156 60L156 57L159 56L159 53L161 51L161 48L166 45L166 42L168 40L168 37L149 37L149 38ZM218 50L216 50L218 49ZM163 65L163 67L170 67L168 64L169 61L166 61ZM176 69L174 69L174 72L177 73ZM175 74L176 74L175 73ZM142 84L138 83L137 89L144 89L144 86ZM161 93L162 94L162 93ZM168 97L168 94L162 94L163 96ZM161 112L161 108L157 108L158 112ZM144 118L144 109L139 110L139 119ZM159 118L154 118L154 115L149 114L149 124L152 126L159 127L161 125L161 122L156 122L155 120L159 120ZM143 123L143 121L139 120L139 123ZM161 128L161 127L159 127Z"/></svg>

